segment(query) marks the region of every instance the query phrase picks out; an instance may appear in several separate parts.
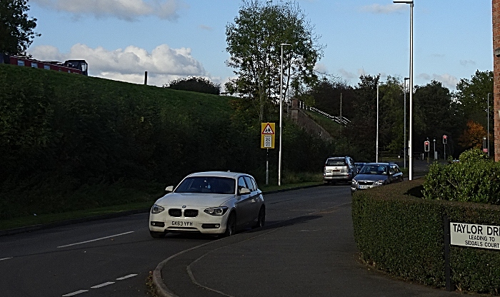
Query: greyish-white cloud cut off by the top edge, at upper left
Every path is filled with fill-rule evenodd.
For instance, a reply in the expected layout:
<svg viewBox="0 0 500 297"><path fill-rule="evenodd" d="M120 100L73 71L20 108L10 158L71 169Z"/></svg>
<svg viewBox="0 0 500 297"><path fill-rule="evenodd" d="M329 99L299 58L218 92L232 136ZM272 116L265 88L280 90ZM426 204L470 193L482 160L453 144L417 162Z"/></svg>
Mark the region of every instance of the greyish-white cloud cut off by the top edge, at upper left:
<svg viewBox="0 0 500 297"><path fill-rule="evenodd" d="M141 16L157 16L175 20L181 9L181 0L31 0L40 6L75 15L92 14L97 18L116 17L134 21Z"/></svg>

